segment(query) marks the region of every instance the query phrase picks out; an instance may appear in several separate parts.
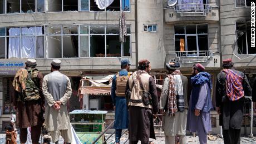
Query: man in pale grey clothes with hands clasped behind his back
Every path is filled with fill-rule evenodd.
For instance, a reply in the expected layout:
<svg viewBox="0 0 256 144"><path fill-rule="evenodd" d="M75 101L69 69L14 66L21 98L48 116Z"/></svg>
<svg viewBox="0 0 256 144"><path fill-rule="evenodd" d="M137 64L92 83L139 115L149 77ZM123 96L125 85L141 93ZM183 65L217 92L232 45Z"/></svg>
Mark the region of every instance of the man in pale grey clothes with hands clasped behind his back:
<svg viewBox="0 0 256 144"><path fill-rule="evenodd" d="M52 142L58 143L60 135L66 143L72 142L70 118L67 101L71 97L70 79L60 73L59 59L53 59L51 72L43 78L43 95L45 95L45 123Z"/></svg>

